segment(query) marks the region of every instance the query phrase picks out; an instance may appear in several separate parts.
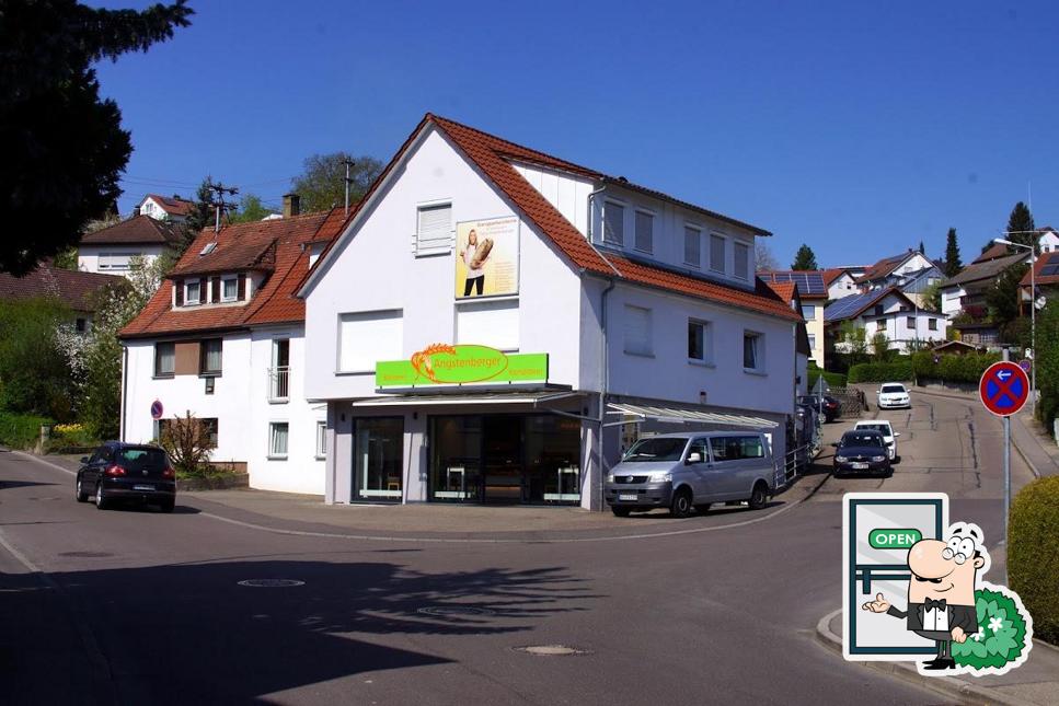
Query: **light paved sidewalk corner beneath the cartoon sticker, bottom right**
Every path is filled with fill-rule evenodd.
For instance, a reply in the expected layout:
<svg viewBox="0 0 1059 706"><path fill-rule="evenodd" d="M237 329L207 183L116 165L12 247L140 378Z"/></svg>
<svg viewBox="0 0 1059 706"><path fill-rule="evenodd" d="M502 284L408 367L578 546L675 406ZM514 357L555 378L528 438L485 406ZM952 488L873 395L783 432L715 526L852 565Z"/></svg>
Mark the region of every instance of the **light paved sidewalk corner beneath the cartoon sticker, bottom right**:
<svg viewBox="0 0 1059 706"><path fill-rule="evenodd" d="M843 629L841 609L825 615L816 626L817 639L840 658ZM1034 640L1025 664L1003 676L925 676L913 662L860 663L965 704L1059 704L1059 649L1040 640Z"/></svg>

